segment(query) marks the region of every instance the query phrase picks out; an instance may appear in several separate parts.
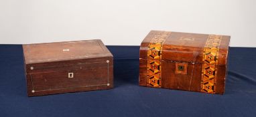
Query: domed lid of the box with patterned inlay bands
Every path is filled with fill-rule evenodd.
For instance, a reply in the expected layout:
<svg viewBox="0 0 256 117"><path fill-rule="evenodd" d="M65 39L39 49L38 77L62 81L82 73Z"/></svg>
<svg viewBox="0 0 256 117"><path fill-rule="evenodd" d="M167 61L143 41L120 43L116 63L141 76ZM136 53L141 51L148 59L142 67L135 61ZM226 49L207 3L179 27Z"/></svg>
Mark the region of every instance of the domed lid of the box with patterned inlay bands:
<svg viewBox="0 0 256 117"><path fill-rule="evenodd" d="M150 31L141 43L140 57L159 57L161 60L194 64L216 62L216 65L225 65L229 40L230 36L227 35Z"/></svg>

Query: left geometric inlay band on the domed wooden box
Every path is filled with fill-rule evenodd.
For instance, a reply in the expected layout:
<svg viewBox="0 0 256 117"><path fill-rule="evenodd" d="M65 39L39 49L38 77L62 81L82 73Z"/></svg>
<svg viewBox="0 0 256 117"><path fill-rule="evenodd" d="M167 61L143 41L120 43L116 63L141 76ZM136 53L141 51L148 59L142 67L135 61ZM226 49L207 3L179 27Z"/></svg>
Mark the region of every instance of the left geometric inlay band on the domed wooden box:
<svg viewBox="0 0 256 117"><path fill-rule="evenodd" d="M151 39L147 51L147 86L161 88L162 46L170 32L159 32Z"/></svg>

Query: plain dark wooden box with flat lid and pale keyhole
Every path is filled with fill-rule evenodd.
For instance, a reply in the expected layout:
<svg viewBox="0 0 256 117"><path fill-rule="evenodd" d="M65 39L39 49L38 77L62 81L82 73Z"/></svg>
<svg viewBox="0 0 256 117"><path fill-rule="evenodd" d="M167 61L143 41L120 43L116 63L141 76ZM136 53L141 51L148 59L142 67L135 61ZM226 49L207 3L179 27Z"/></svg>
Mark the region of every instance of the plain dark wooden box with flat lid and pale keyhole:
<svg viewBox="0 0 256 117"><path fill-rule="evenodd" d="M99 39L23 45L27 95L113 88L113 55Z"/></svg>

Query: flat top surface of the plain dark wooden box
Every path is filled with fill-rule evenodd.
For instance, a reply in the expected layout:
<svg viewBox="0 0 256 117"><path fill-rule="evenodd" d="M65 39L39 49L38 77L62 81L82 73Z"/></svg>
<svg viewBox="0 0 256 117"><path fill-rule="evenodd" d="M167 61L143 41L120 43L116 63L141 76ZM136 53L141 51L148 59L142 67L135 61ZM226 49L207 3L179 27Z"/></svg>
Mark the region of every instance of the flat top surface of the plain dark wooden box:
<svg viewBox="0 0 256 117"><path fill-rule="evenodd" d="M25 64L113 57L100 39L23 45Z"/></svg>

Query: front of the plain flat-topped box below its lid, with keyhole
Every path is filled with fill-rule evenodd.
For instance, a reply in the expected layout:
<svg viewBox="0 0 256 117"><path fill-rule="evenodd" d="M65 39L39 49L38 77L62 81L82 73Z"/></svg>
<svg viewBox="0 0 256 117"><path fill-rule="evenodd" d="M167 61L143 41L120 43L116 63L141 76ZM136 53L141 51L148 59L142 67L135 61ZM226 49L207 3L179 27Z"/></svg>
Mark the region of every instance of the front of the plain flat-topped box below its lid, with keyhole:
<svg viewBox="0 0 256 117"><path fill-rule="evenodd" d="M67 70L42 70L27 74L27 94L41 96L65 92L103 90L113 88L113 60L97 67L79 64ZM57 67L58 68L58 67ZM52 68L51 68L52 69Z"/></svg>

